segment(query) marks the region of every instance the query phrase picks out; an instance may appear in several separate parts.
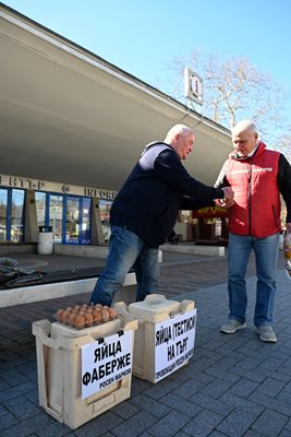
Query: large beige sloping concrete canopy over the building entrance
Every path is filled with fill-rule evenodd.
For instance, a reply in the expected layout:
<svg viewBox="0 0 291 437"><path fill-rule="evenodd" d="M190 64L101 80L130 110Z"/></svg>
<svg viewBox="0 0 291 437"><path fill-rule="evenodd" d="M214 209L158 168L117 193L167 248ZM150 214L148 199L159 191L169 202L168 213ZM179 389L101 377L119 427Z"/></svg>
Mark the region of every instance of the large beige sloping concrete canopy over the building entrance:
<svg viewBox="0 0 291 437"><path fill-rule="evenodd" d="M118 190L144 145L178 122L196 132L186 168L211 185L227 129L0 5L1 174Z"/></svg>

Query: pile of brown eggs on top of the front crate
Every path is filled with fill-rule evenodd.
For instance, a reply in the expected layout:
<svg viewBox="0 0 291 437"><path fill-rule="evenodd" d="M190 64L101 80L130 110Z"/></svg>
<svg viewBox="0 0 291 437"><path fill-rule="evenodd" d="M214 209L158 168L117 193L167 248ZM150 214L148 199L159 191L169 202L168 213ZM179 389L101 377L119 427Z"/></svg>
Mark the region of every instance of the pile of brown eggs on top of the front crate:
<svg viewBox="0 0 291 437"><path fill-rule="evenodd" d="M68 324L75 329L90 328L95 324L106 323L114 320L118 312L114 308L96 305L76 305L74 307L60 308L56 312L58 322Z"/></svg>

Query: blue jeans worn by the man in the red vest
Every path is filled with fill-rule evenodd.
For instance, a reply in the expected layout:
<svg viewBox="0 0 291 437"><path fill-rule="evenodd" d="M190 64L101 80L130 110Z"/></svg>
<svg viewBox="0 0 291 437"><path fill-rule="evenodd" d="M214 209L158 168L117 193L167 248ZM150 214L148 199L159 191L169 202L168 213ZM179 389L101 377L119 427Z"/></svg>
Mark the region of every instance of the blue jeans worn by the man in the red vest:
<svg viewBox="0 0 291 437"><path fill-rule="evenodd" d="M229 234L229 319L243 323L247 305L244 277L252 249L255 252L257 275L254 324L258 328L272 323L279 234L266 238Z"/></svg>

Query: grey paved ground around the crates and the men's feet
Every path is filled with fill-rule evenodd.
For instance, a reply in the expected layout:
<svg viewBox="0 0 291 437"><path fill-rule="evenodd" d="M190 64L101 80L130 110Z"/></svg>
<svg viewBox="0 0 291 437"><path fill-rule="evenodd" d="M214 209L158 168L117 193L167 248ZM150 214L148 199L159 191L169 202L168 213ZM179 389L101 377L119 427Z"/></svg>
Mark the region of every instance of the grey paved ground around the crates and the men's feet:
<svg viewBox="0 0 291 437"><path fill-rule="evenodd" d="M197 332L190 364L153 385L132 381L131 398L74 432L38 406L35 338L31 323L87 295L0 309L1 437L290 437L291 281L278 270L276 344L263 343L252 324L254 261L248 268L247 329L218 331L227 318L225 258L167 256L159 291L196 302Z"/></svg>

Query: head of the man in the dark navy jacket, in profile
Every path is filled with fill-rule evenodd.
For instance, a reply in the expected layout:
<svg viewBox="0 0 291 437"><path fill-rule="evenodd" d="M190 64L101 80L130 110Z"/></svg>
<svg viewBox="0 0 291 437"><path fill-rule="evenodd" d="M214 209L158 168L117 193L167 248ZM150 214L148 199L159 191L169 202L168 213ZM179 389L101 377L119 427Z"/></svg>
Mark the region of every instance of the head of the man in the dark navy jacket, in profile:
<svg viewBox="0 0 291 437"><path fill-rule="evenodd" d="M187 155L192 152L195 141L193 129L185 125L173 126L165 139L165 143L170 144L180 160L186 160Z"/></svg>

